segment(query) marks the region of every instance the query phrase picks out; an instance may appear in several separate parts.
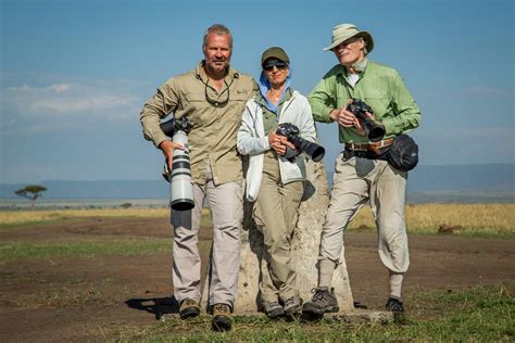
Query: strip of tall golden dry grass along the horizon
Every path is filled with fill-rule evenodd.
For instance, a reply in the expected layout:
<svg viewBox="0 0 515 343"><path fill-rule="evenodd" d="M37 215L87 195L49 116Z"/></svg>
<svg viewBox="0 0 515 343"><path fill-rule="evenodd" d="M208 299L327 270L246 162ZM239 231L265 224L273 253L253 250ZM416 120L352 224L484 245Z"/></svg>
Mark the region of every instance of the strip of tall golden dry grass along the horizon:
<svg viewBox="0 0 515 343"><path fill-rule="evenodd" d="M0 212L0 226L35 224L85 217L167 217L167 208L105 208ZM210 225L203 209L202 225ZM413 233L436 233L440 226L459 227L457 234L515 236L515 204L418 204L405 208L406 227ZM349 226L375 228L365 206Z"/></svg>

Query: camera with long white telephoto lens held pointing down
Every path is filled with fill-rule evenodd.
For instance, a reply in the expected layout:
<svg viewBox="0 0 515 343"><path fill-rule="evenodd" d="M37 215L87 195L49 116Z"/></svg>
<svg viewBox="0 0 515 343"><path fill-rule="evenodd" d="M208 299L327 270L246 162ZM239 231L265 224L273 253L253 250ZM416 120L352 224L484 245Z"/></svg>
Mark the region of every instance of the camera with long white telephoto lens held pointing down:
<svg viewBox="0 0 515 343"><path fill-rule="evenodd" d="M180 143L181 149L174 149L172 161L172 173L168 170L168 161L165 162L165 172L163 176L169 182L169 206L176 211L188 211L194 207L193 183L191 182L191 168L189 162L188 132L191 123L187 117L177 120L172 117L171 120L161 123L163 132L172 138L173 142Z"/></svg>

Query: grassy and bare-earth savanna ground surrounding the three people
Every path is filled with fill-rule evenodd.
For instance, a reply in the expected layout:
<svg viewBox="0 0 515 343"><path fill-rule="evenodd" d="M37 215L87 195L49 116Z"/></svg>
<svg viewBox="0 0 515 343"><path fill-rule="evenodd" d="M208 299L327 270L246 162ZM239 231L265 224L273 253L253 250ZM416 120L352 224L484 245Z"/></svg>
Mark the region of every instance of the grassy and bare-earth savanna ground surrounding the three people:
<svg viewBox="0 0 515 343"><path fill-rule="evenodd" d="M168 221L166 208L0 212L0 341L515 340L515 204L406 206L412 266L403 320L237 317L228 333L212 332L208 316L162 317L177 310ZM205 262L208 209L201 226ZM364 208L346 233L346 257L354 300L369 309L385 304L376 245Z"/></svg>

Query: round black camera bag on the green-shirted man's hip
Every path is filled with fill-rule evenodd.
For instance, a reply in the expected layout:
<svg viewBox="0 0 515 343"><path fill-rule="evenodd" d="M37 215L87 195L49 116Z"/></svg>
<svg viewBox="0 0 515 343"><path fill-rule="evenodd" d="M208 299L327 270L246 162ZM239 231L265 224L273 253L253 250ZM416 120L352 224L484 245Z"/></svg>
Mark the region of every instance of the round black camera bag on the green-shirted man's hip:
<svg viewBox="0 0 515 343"><path fill-rule="evenodd" d="M386 157L395 169L409 172L418 163L418 145L410 136L400 135L391 143Z"/></svg>

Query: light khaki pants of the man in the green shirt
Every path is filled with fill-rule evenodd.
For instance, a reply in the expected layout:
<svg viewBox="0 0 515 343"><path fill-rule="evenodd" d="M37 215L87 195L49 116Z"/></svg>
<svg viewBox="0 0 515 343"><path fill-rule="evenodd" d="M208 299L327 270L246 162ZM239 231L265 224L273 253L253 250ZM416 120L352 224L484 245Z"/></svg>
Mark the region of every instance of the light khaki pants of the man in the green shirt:
<svg viewBox="0 0 515 343"><path fill-rule="evenodd" d="M351 157L336 160L334 188L322 231L318 259L339 263L343 230L369 200L379 233L379 257L392 272L403 274L410 265L404 227L406 172L388 162Z"/></svg>

